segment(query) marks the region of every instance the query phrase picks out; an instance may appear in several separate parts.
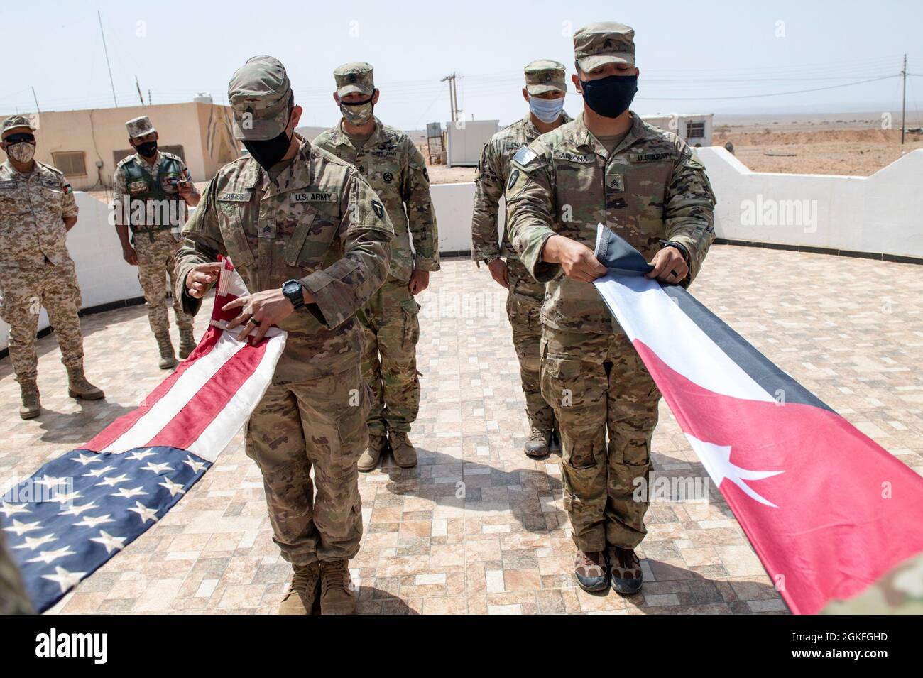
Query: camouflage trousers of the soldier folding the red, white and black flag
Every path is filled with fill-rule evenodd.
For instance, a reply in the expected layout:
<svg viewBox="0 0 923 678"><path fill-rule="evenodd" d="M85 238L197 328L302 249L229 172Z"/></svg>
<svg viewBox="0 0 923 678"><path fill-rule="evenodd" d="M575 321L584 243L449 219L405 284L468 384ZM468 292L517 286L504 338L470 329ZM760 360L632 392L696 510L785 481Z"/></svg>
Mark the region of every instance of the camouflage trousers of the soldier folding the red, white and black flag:
<svg viewBox="0 0 923 678"><path fill-rule="evenodd" d="M653 470L660 391L651 375L621 331L545 326L542 393L557 415L574 543L581 551L602 551L606 544L633 549L647 533L648 503L633 494L635 479Z"/></svg>

